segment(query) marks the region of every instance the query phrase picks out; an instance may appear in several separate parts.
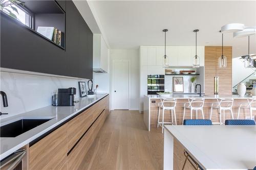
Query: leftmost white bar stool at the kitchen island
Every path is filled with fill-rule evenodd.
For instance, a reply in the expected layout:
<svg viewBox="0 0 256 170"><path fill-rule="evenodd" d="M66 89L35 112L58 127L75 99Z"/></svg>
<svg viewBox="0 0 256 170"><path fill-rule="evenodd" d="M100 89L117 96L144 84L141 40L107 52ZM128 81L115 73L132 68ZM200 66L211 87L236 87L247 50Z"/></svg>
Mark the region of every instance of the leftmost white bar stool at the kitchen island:
<svg viewBox="0 0 256 170"><path fill-rule="evenodd" d="M161 98L161 102L158 103L158 119L157 119L157 128L159 125L162 127L162 133L163 133L163 125L164 124L172 124L173 125L173 113L174 113L174 119L175 119L175 125L177 125L176 121L176 112L175 107L177 103L177 99L175 98ZM159 122L160 118L160 110L162 109L162 122ZM172 122L164 122L164 110L170 110L171 116L172 116Z"/></svg>

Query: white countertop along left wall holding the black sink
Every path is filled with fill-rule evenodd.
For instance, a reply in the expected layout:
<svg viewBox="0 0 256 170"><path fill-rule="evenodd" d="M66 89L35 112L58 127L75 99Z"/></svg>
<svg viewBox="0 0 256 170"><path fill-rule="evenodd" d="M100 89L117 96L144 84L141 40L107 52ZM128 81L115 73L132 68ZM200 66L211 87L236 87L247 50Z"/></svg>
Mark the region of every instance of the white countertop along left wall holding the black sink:
<svg viewBox="0 0 256 170"><path fill-rule="evenodd" d="M9 156L19 148L22 148L24 145L33 141L37 137L45 134L46 132L50 131L51 129L65 122L65 120L68 120L72 116L88 108L92 104L104 98L106 95L108 94L107 93L97 94L94 98L88 98L86 96L84 98L75 99L75 100L79 100L79 103L75 103L75 106L58 106L58 107L47 106L44 108L32 110L26 113L1 119L0 120L1 126L4 126L6 124L15 122L16 120L19 120L19 119L52 118L48 122L41 124L40 126L37 126L36 128L31 129L19 136L1 137L0 138L0 146L1 146L0 160Z"/></svg>

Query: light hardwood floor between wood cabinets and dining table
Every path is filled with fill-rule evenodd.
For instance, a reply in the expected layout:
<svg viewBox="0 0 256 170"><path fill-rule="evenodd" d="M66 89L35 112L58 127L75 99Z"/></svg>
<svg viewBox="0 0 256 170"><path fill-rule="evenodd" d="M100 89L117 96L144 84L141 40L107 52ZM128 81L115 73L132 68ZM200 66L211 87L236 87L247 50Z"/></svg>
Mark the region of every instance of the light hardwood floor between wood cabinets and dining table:
<svg viewBox="0 0 256 170"><path fill-rule="evenodd" d="M139 111L111 111L79 169L163 169L161 128L148 132Z"/></svg>

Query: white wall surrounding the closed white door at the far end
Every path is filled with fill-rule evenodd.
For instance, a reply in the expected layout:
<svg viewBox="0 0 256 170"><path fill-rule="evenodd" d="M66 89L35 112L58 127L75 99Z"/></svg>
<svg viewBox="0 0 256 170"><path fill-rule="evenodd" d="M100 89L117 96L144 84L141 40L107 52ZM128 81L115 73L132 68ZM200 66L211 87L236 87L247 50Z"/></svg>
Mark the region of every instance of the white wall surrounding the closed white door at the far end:
<svg viewBox="0 0 256 170"><path fill-rule="evenodd" d="M139 110L139 98L140 98L140 81L139 81L139 50L110 50L110 94L112 92L112 73L113 73L113 60L130 60L131 64L131 82L130 82L130 110ZM112 101L112 95L110 95L110 101ZM111 102L111 109L112 107Z"/></svg>

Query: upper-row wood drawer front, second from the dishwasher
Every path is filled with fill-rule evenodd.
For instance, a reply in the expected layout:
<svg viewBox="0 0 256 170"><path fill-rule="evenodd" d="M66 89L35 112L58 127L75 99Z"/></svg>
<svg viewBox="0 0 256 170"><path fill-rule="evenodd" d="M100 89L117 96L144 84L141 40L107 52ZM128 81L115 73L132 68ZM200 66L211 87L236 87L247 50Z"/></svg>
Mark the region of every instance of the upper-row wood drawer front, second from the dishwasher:
<svg viewBox="0 0 256 170"><path fill-rule="evenodd" d="M93 106L70 120L68 124L68 151L93 123Z"/></svg>

